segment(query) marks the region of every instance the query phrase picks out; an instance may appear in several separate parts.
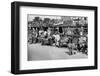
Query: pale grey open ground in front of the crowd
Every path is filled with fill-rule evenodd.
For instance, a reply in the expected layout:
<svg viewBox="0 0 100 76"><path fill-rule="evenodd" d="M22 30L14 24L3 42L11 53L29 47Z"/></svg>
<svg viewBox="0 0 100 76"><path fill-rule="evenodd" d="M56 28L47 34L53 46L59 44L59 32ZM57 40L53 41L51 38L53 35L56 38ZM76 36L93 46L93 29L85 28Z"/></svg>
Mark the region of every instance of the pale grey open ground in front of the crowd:
<svg viewBox="0 0 100 76"><path fill-rule="evenodd" d="M28 44L28 61L32 60L56 60L56 59L84 59L88 55L76 53L68 55L67 48L58 48L55 46L46 46L41 44Z"/></svg>

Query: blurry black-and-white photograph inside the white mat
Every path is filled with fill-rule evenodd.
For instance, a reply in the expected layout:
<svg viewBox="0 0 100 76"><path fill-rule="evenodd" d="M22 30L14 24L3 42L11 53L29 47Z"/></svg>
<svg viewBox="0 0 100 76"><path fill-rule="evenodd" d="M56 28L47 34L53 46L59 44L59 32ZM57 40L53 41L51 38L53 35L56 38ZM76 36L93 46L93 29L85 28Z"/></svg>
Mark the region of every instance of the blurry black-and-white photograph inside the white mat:
<svg viewBox="0 0 100 76"><path fill-rule="evenodd" d="M28 61L88 58L88 17L27 15Z"/></svg>

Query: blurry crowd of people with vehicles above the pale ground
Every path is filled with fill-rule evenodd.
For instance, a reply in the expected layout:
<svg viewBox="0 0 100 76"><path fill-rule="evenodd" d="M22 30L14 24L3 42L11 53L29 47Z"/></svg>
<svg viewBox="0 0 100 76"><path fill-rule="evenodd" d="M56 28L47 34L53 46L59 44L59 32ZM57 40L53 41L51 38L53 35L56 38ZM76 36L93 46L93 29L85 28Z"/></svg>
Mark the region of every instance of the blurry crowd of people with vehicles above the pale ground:
<svg viewBox="0 0 100 76"><path fill-rule="evenodd" d="M29 44L41 43L41 45L51 45L58 48L66 47L69 49L69 55L76 52L88 54L88 34L83 32L83 27L79 28L78 31L67 28L67 32L59 32L59 28L56 28L56 31L52 31L52 29L49 27L47 29L29 28ZM31 32L29 33L29 31Z"/></svg>

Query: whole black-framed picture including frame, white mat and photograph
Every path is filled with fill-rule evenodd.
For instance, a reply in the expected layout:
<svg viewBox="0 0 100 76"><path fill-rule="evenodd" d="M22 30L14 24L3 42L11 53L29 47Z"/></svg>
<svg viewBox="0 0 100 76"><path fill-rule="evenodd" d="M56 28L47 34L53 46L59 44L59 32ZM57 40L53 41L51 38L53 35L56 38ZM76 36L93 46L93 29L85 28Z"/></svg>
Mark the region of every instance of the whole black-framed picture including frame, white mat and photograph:
<svg viewBox="0 0 100 76"><path fill-rule="evenodd" d="M12 73L97 69L97 7L13 2Z"/></svg>

